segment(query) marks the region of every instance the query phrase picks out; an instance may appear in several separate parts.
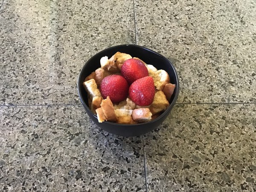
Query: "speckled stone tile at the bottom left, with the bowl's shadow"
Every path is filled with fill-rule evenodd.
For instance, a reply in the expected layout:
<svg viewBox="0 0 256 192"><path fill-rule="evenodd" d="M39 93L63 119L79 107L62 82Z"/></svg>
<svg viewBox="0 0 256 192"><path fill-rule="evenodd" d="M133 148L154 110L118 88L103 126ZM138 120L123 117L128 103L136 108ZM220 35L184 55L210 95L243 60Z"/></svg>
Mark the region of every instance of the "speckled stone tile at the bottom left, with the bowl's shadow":
<svg viewBox="0 0 256 192"><path fill-rule="evenodd" d="M145 191L142 137L99 130L80 106L0 107L0 191Z"/></svg>

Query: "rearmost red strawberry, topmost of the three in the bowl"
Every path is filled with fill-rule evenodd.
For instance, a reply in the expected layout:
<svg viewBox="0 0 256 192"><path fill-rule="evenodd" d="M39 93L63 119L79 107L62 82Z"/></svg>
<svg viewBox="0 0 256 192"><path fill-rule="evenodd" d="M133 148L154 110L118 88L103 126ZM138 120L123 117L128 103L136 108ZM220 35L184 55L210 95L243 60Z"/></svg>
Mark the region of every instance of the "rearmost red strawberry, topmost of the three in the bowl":
<svg viewBox="0 0 256 192"><path fill-rule="evenodd" d="M148 76L148 69L140 60L131 58L123 63L121 73L128 83L132 84L137 79Z"/></svg>

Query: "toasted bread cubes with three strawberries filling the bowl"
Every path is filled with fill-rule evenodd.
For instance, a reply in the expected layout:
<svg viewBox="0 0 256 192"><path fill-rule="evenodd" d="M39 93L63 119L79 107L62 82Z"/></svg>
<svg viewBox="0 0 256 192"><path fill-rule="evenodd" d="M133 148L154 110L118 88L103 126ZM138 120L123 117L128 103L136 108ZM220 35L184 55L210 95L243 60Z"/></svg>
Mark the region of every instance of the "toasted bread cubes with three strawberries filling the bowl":
<svg viewBox="0 0 256 192"><path fill-rule="evenodd" d="M99 62L101 67L83 82L89 108L99 122L148 122L168 108L175 84L165 70L121 52Z"/></svg>

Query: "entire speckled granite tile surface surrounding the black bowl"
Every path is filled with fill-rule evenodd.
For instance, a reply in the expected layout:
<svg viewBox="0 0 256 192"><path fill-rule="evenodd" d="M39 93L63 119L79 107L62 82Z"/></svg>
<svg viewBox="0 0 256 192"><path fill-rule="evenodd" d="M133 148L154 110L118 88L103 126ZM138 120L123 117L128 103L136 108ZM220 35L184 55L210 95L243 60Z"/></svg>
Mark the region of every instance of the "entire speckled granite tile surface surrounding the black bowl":
<svg viewBox="0 0 256 192"><path fill-rule="evenodd" d="M255 0L0 0L0 191L256 191L255 13ZM141 137L100 130L76 90L117 44L180 77Z"/></svg>

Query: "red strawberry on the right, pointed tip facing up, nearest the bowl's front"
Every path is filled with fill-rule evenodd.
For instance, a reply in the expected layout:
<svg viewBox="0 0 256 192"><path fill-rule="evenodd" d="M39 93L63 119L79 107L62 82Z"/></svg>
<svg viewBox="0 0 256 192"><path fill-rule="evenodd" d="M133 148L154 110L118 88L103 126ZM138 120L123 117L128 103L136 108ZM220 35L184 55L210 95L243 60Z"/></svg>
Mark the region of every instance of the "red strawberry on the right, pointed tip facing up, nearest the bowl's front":
<svg viewBox="0 0 256 192"><path fill-rule="evenodd" d="M155 88L152 77L147 76L134 81L129 88L131 100L140 106L151 105L154 99Z"/></svg>

